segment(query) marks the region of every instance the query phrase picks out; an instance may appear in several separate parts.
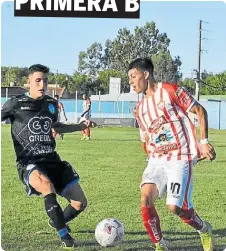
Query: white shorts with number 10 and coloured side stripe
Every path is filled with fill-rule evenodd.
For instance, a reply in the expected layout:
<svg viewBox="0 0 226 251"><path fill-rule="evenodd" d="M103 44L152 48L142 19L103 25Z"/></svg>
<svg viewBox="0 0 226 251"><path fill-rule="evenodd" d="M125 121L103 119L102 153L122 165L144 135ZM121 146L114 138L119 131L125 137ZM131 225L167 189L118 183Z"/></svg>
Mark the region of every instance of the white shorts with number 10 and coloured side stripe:
<svg viewBox="0 0 226 251"><path fill-rule="evenodd" d="M193 207L192 169L195 161L150 158L144 170L141 187L144 184L156 184L159 197L167 192L167 205L175 205L185 210Z"/></svg>

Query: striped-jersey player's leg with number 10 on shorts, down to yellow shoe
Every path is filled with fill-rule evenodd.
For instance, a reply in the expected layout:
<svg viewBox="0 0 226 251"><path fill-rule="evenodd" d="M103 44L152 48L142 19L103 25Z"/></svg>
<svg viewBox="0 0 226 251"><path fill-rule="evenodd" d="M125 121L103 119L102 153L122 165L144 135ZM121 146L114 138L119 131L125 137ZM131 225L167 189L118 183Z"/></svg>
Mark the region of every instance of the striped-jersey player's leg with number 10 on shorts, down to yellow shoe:
<svg viewBox="0 0 226 251"><path fill-rule="evenodd" d="M192 205L192 161L169 162L167 166L169 210L200 233L204 251L212 251L214 245L211 225L199 217Z"/></svg>

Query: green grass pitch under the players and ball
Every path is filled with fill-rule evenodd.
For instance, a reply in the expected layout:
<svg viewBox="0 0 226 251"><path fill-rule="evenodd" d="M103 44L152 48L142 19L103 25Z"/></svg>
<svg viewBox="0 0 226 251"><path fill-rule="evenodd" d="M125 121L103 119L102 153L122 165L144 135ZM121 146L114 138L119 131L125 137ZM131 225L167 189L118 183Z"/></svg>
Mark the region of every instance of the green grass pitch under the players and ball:
<svg viewBox="0 0 226 251"><path fill-rule="evenodd" d="M72 163L81 177L88 208L71 223L78 240L75 250L100 250L94 239L96 224L115 217L125 224L125 240L108 250L153 250L140 217L139 183L146 166L135 128L97 128L91 141L80 134L57 139L57 151ZM226 131L211 130L216 148L214 162L203 161L194 169L193 202L197 212L212 223L217 250L226 249ZM59 199L63 207L66 201ZM198 234L157 202L161 225L171 250L202 250ZM2 126L2 248L11 251L56 251L59 239L47 225L43 200L28 198L15 168L10 128ZM105 250L105 249L103 249Z"/></svg>

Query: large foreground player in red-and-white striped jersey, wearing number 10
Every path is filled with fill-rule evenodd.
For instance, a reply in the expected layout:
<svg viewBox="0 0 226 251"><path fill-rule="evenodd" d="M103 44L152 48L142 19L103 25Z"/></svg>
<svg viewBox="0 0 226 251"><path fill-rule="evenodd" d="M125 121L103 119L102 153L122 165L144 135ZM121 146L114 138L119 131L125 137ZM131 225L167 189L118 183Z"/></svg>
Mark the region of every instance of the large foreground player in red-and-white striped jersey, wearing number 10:
<svg viewBox="0 0 226 251"><path fill-rule="evenodd" d="M144 93L136 115L150 152L141 182L143 223L156 250L168 250L155 209L156 199L167 192L169 210L198 231L204 251L212 251L211 225L199 217L191 201L193 166L200 157L216 157L208 142L207 112L184 88L156 83L153 69L147 58L134 60L128 69L130 85L137 93ZM188 112L198 117L200 144Z"/></svg>

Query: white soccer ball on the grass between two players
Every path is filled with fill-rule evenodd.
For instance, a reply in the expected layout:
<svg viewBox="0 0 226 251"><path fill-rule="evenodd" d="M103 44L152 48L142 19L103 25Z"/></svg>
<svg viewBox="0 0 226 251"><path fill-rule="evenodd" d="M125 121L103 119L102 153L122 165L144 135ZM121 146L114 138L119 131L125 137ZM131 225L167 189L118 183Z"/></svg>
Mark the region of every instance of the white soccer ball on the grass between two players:
<svg viewBox="0 0 226 251"><path fill-rule="evenodd" d="M96 226L95 238L102 247L118 246L124 238L124 226L117 219L104 219Z"/></svg>

